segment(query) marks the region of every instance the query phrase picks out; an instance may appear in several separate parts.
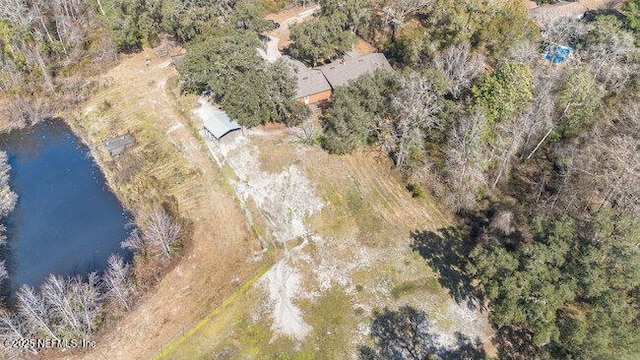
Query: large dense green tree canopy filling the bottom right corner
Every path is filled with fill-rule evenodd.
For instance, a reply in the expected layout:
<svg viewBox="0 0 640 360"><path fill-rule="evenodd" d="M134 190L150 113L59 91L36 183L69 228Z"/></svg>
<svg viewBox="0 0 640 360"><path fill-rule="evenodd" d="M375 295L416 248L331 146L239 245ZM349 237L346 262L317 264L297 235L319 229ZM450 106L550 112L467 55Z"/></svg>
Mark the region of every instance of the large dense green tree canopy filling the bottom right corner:
<svg viewBox="0 0 640 360"><path fill-rule="evenodd" d="M468 271L498 326L528 329L557 358L607 358L640 341L637 219L604 209L577 221L538 217L532 239L484 230ZM588 274L588 275L587 275Z"/></svg>

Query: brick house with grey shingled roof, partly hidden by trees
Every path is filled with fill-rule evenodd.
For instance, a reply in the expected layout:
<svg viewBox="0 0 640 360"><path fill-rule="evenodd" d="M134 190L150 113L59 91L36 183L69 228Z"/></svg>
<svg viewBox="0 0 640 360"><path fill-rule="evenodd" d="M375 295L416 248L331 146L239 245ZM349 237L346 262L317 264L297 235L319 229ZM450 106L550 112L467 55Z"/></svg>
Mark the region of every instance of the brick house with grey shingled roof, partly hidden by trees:
<svg viewBox="0 0 640 360"><path fill-rule="evenodd" d="M331 92L358 77L376 70L393 70L381 53L359 55L350 53L340 60L317 68L308 68L290 57L285 60L294 68L297 77L295 99L305 104L328 100Z"/></svg>

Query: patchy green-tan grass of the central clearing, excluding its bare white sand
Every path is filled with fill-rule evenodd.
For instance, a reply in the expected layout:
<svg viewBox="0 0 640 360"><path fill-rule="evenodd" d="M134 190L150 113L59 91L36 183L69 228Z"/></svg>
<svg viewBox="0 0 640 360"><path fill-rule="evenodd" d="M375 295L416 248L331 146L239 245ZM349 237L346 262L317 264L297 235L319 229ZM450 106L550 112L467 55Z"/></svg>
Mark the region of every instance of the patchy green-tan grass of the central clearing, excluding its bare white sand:
<svg viewBox="0 0 640 360"><path fill-rule="evenodd" d="M274 327L263 278L159 358L349 358L369 344L372 316L404 304L425 310L445 339L456 331L489 338L485 315L456 304L438 275L411 250L412 231L445 227L448 216L431 198L413 198L388 159L375 152L331 156L297 144L277 127L246 134L249 142L235 151L254 154L267 174L302 169L325 204L307 219L307 240L286 245L290 254L280 260L301 276L293 304L311 330L297 339ZM233 151L227 154L231 163Z"/></svg>

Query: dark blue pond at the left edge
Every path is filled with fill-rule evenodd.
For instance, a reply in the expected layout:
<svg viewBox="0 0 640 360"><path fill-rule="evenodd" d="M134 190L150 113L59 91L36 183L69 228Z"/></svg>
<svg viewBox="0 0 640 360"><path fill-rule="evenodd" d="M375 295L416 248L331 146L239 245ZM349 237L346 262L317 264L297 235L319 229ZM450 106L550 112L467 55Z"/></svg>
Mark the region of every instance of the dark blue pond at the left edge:
<svg viewBox="0 0 640 360"><path fill-rule="evenodd" d="M7 226L9 280L5 293L22 284L39 286L50 274L101 271L128 235L130 215L109 190L89 149L61 120L0 135L9 155L10 186L18 203Z"/></svg>

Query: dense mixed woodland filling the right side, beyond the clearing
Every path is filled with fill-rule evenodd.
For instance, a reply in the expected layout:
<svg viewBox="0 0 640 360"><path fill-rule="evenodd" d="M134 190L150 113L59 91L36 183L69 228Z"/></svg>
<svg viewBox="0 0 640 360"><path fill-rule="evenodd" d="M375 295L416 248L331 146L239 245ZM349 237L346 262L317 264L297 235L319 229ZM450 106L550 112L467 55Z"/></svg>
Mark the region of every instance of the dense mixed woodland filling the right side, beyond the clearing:
<svg viewBox="0 0 640 360"><path fill-rule="evenodd" d="M396 2L356 33L398 71L336 89L322 115L328 151L380 147L456 210L462 273L496 329L528 344L501 357L637 355L637 4L534 24L515 3ZM555 45L572 56L543 60Z"/></svg>

